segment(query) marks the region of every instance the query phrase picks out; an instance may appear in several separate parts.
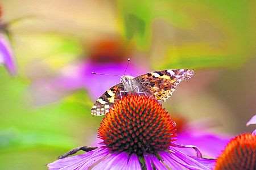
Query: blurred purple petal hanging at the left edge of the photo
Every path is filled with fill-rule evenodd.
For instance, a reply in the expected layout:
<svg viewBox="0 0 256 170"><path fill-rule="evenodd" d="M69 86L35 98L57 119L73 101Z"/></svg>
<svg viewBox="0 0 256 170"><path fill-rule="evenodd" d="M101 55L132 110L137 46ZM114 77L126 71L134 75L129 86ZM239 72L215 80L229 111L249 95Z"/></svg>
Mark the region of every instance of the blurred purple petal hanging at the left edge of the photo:
<svg viewBox="0 0 256 170"><path fill-rule="evenodd" d="M14 54L11 50L11 45L7 37L0 33L0 63L2 62L10 74L16 73L16 67L14 64Z"/></svg>

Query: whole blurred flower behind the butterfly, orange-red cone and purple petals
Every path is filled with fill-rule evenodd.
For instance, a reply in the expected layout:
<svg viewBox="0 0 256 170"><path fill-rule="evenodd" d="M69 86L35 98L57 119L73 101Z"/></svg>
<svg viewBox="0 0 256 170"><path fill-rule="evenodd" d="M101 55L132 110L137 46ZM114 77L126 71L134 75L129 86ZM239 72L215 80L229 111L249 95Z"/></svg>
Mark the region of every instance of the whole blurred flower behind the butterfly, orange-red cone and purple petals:
<svg viewBox="0 0 256 170"><path fill-rule="evenodd" d="M55 101L69 92L84 89L93 100L101 96L106 90L119 83L119 76L123 75L130 56L129 45L119 39L100 40L89 48L87 58L65 67L57 76L51 78L34 79L31 94L36 104ZM144 64L146 65L146 64ZM110 74L95 75L92 72ZM137 76L146 73L145 66L141 66L131 58L126 74Z"/></svg>

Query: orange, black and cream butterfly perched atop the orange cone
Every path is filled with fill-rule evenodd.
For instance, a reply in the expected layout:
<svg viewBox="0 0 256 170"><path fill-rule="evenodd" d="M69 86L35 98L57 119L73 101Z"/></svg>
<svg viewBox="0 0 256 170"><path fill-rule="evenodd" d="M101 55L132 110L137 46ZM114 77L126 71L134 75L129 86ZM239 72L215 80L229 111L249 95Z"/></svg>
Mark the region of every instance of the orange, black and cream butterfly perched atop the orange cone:
<svg viewBox="0 0 256 170"><path fill-rule="evenodd" d="M127 93L149 95L158 101L166 101L175 91L177 84L192 76L193 70L188 69L153 71L136 77L123 75L120 78L121 83L115 84L96 100L91 113L94 116L108 113L114 102Z"/></svg>

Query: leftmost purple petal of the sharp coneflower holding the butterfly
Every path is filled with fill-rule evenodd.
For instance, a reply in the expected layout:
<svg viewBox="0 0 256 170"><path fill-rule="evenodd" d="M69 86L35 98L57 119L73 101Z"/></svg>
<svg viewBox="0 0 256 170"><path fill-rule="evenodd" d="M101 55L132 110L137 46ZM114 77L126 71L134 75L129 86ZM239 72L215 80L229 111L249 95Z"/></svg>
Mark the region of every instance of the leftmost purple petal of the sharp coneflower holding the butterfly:
<svg viewBox="0 0 256 170"><path fill-rule="evenodd" d="M56 160L53 163L47 164L49 170L55 169L84 169L89 168L96 161L104 158L109 154L108 149L106 148L97 148L96 150L86 152L85 154L71 156L64 159Z"/></svg>

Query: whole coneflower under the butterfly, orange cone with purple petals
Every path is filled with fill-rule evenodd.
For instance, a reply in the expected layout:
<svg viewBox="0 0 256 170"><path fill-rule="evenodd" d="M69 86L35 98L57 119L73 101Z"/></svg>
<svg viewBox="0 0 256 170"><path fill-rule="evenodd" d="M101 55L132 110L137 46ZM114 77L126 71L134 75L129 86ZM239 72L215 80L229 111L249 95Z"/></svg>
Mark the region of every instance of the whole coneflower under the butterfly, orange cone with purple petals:
<svg viewBox="0 0 256 170"><path fill-rule="evenodd" d="M98 129L101 147L81 147L80 150L88 152L56 160L48 167L101 170L213 168L215 160L202 158L196 146L176 145L176 135L175 122L158 101L144 95L128 95L117 101L102 119ZM186 155L179 148L193 148L196 154Z"/></svg>

